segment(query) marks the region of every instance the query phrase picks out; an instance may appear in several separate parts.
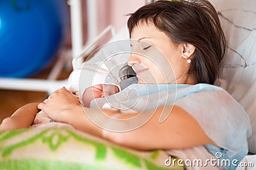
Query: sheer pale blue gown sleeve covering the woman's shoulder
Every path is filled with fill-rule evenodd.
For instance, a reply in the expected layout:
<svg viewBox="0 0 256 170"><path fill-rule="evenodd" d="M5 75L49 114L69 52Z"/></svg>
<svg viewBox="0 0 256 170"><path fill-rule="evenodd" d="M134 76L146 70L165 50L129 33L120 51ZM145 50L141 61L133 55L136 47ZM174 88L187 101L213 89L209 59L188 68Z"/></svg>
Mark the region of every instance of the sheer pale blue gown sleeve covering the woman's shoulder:
<svg viewBox="0 0 256 170"><path fill-rule="evenodd" d="M248 151L246 138L252 134L250 119L243 106L226 90L215 85L196 84L184 87L180 94L182 97L175 105L195 118L214 143L228 149L229 157L242 149Z"/></svg>

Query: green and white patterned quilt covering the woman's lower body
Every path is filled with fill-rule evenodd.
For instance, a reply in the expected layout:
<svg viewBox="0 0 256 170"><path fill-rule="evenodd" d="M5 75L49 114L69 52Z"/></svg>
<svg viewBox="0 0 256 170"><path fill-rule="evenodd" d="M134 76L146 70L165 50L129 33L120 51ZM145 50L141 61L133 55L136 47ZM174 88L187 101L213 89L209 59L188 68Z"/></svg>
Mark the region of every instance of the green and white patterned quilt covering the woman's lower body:
<svg viewBox="0 0 256 170"><path fill-rule="evenodd" d="M131 150L67 124L0 132L0 169L184 169L165 166L168 158L163 150Z"/></svg>

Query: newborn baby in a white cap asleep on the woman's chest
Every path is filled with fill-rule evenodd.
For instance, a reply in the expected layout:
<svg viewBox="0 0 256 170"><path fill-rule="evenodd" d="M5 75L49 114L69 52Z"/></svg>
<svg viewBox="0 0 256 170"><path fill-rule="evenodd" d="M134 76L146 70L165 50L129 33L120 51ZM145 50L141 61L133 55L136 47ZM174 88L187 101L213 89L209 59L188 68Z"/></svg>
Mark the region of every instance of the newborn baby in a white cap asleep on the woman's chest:
<svg viewBox="0 0 256 170"><path fill-rule="evenodd" d="M120 86L115 76L109 72L105 64L86 64L86 69L78 69L73 71L68 78L68 89L78 97L82 97L81 104L85 107L90 107L93 99L111 96L120 91ZM86 77L85 77L86 76ZM88 77L90 78L88 80ZM79 85L79 81L80 84ZM80 96L80 97L81 97ZM32 126L54 122L43 111L36 114Z"/></svg>

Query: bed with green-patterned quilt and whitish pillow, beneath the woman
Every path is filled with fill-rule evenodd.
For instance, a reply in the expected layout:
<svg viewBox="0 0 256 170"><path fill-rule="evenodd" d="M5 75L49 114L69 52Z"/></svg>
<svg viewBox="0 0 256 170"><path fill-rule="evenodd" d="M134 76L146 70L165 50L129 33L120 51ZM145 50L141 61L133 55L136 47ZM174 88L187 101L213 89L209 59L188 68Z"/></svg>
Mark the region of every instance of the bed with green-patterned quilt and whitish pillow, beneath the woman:
<svg viewBox="0 0 256 170"><path fill-rule="evenodd" d="M248 139L250 153L242 160L243 166L237 169L256 169L256 1L214 0L212 3L228 39L218 85L241 103L253 129ZM115 39L118 38L127 38L127 30L121 31ZM166 166L171 163L170 157L179 160L178 155L164 150L141 152L117 146L61 123L0 132L0 169L185 168L177 162L174 167Z"/></svg>

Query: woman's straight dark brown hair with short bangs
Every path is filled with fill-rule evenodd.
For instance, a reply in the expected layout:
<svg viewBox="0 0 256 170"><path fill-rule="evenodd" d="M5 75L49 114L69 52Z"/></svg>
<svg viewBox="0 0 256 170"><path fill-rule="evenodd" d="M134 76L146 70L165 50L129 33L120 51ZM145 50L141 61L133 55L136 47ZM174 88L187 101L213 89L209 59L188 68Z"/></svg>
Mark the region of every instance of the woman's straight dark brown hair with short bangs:
<svg viewBox="0 0 256 170"><path fill-rule="evenodd" d="M209 1L156 1L130 15L127 22L130 36L139 22L153 22L173 43L194 45L196 50L188 73L193 74L196 83L214 84L220 74L226 39Z"/></svg>

